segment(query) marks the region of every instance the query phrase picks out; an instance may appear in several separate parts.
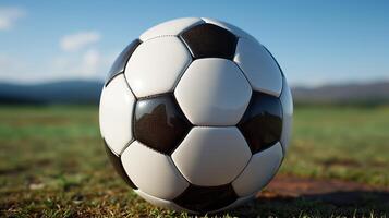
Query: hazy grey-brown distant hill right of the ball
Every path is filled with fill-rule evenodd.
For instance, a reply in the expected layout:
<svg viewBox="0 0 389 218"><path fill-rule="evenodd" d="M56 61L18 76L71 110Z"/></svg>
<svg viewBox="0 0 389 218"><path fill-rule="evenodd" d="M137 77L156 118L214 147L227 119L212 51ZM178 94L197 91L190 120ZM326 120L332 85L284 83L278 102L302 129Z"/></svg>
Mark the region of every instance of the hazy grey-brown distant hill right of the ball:
<svg viewBox="0 0 389 218"><path fill-rule="evenodd" d="M292 93L296 102L380 104L389 102L389 82L294 87Z"/></svg>

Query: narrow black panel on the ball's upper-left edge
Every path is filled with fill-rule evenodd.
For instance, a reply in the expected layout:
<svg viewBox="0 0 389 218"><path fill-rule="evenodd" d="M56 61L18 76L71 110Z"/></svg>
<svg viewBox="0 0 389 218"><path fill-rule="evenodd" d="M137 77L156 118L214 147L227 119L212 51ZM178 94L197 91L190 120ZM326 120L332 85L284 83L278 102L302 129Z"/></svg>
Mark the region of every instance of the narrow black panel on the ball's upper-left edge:
<svg viewBox="0 0 389 218"><path fill-rule="evenodd" d="M133 40L129 46L124 48L124 50L119 55L119 57L114 60L111 69L109 70L109 74L107 77L106 86L111 82L111 80L120 73L124 72L125 64L131 58L132 53L135 49L141 45L139 39Z"/></svg>

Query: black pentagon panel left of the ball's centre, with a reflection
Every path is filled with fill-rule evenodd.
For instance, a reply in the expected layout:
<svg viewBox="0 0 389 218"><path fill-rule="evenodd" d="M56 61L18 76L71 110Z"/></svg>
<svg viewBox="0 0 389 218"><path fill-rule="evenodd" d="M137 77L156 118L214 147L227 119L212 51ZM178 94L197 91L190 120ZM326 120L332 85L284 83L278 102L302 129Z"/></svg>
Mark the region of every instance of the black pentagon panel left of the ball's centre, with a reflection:
<svg viewBox="0 0 389 218"><path fill-rule="evenodd" d="M134 117L135 138L166 155L173 153L192 126L172 94L139 99Z"/></svg>

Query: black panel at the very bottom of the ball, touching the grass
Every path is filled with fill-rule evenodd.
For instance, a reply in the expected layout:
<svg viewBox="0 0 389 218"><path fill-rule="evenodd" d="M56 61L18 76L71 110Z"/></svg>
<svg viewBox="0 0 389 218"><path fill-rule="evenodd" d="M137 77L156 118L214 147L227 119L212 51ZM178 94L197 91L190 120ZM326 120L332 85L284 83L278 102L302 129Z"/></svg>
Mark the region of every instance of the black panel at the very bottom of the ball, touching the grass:
<svg viewBox="0 0 389 218"><path fill-rule="evenodd" d="M190 186L173 199L179 206L199 213L214 211L229 206L238 199L231 184L220 186Z"/></svg>

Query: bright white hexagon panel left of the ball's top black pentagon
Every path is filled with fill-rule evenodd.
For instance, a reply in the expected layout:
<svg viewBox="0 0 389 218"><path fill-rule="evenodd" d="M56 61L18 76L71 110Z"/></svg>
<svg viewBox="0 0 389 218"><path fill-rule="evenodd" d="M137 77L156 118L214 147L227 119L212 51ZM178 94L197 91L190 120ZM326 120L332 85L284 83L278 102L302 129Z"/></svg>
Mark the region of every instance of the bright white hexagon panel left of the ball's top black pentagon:
<svg viewBox="0 0 389 218"><path fill-rule="evenodd" d="M125 78L138 98L173 92L192 61L184 43L175 36L142 43L125 66Z"/></svg>

